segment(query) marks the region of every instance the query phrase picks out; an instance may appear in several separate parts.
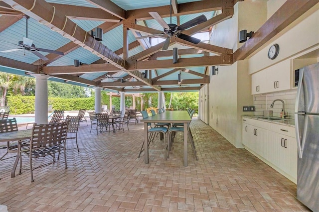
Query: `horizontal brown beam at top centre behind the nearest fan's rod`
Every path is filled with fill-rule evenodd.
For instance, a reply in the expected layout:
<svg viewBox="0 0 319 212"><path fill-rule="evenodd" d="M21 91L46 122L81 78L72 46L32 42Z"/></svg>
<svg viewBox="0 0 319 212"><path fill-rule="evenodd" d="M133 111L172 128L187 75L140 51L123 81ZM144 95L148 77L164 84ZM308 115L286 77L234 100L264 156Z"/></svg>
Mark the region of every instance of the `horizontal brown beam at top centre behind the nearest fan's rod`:
<svg viewBox="0 0 319 212"><path fill-rule="evenodd" d="M199 12L207 12L213 10L222 9L224 5L224 1L229 0L201 0L200 3L197 1L187 2L187 3L179 3L178 4L178 12L172 13L172 16L179 15L187 15ZM170 16L170 6L158 6L158 7L149 7L135 10L128 10L127 17L133 18L136 20L149 20L153 19L153 17L149 14L149 12L158 12L161 17L169 17Z"/></svg>

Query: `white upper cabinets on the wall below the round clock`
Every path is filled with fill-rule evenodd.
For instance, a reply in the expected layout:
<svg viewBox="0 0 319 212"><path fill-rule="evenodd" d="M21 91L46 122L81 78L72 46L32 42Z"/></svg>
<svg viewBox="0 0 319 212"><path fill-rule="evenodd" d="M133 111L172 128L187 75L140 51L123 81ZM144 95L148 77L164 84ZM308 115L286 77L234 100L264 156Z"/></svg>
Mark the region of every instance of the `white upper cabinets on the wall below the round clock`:
<svg viewBox="0 0 319 212"><path fill-rule="evenodd" d="M291 89L290 60L282 61L252 75L252 94L264 94L289 89Z"/></svg>

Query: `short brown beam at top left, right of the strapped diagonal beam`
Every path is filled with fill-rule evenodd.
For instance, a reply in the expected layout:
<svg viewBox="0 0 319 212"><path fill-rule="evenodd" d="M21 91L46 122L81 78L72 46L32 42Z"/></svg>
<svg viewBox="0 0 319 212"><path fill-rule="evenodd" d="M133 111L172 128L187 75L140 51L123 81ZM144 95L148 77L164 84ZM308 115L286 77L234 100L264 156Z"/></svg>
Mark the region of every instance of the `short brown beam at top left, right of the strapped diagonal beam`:
<svg viewBox="0 0 319 212"><path fill-rule="evenodd" d="M55 6L56 10L59 10L64 15L70 17L71 19L80 20L98 20L107 22L120 22L120 18L105 12L105 10L94 7L85 6L75 6L60 3L50 3Z"/></svg>

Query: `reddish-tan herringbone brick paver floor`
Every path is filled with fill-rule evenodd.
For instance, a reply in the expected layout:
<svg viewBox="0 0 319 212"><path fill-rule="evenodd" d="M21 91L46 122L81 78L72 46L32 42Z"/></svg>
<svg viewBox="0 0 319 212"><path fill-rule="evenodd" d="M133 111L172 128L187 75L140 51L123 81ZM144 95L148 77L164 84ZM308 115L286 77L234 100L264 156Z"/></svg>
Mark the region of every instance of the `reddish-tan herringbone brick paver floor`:
<svg viewBox="0 0 319 212"><path fill-rule="evenodd" d="M130 130L90 133L81 123L80 152L68 140L68 169L56 163L10 178L14 158L0 161L0 205L19 211L308 211L296 200L296 185L245 149L237 149L197 118L191 122L199 160L188 146L183 166L182 133L177 133L165 161L163 143L144 153L143 123ZM4 145L4 143L3 143ZM5 149L0 149L0 154ZM34 160L34 164L50 161ZM28 167L28 159L22 157Z"/></svg>

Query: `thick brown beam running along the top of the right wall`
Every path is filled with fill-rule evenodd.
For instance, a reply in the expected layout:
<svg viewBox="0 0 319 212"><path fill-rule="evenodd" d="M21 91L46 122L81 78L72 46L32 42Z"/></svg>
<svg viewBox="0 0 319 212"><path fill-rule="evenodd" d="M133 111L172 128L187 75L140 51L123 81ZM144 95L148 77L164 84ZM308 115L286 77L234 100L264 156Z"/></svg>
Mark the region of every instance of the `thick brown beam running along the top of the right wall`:
<svg viewBox="0 0 319 212"><path fill-rule="evenodd" d="M266 44L271 38L281 32L298 17L315 6L318 0L288 0L286 1L243 46L234 53L234 62L244 60L254 51Z"/></svg>

